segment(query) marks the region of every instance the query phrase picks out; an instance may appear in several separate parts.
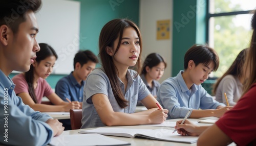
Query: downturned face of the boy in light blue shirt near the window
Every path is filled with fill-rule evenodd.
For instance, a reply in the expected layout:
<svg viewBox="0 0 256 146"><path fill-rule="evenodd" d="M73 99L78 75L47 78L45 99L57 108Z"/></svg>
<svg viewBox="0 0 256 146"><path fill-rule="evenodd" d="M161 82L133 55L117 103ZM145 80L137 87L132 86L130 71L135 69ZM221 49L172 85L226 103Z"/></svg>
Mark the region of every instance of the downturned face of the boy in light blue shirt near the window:
<svg viewBox="0 0 256 146"><path fill-rule="evenodd" d="M195 66L195 63L194 63L194 66L190 69L191 69L190 70L191 81L196 85L200 85L208 79L210 73L214 69L214 63L211 62L208 65L199 63L197 66Z"/></svg>

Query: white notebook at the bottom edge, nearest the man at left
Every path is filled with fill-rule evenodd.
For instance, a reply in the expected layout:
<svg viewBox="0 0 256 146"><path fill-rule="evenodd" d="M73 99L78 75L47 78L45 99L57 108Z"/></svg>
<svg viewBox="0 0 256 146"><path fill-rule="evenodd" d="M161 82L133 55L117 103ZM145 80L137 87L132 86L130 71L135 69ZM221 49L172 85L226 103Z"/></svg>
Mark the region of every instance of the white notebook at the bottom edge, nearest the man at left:
<svg viewBox="0 0 256 146"><path fill-rule="evenodd" d="M129 142L110 138L100 134L59 135L59 136L53 137L49 144L52 146L131 145L131 143Z"/></svg>

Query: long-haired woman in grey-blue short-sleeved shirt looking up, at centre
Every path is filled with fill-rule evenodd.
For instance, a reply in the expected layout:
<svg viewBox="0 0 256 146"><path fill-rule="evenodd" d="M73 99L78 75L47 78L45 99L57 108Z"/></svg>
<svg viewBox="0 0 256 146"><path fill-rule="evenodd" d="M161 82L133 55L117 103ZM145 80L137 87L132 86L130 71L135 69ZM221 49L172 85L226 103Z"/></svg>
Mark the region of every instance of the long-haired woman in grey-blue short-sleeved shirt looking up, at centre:
<svg viewBox="0 0 256 146"><path fill-rule="evenodd" d="M168 110L159 109L137 71L141 68L141 35L134 22L114 19L99 36L101 68L87 77L83 92L82 127L160 124ZM137 101L148 109L135 112Z"/></svg>

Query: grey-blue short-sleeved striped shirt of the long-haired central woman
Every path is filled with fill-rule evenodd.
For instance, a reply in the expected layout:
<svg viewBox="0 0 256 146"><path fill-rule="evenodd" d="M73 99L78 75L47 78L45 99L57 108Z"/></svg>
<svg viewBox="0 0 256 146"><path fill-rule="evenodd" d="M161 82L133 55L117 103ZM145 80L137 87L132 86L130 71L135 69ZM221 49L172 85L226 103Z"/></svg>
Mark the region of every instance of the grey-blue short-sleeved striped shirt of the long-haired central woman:
<svg viewBox="0 0 256 146"><path fill-rule="evenodd" d="M83 88L83 106L82 106L82 127L81 128L93 128L105 126L97 113L97 107L95 109L92 103L92 95L101 93L108 96L110 104L115 112L134 113L136 109L137 101L143 100L150 91L146 88L145 84L141 80L140 76L136 75L136 71L128 69L126 78L128 80L126 91L124 91L124 84L119 79L120 88L124 94L125 100L128 101L128 106L125 108L119 107L115 96L112 92L112 87L109 78L106 76L102 68L94 69L87 77L86 83Z"/></svg>

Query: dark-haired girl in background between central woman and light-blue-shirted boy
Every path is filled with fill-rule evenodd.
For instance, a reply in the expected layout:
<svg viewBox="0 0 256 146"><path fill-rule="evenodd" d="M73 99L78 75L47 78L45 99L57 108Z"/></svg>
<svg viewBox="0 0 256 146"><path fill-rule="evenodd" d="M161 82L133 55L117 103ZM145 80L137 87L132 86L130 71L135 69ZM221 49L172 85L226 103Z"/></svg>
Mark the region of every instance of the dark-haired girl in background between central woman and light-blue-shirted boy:
<svg viewBox="0 0 256 146"><path fill-rule="evenodd" d="M166 65L163 57L157 53L148 55L144 60L140 78L155 98L157 98L157 91L160 86L158 81L163 76ZM137 106L143 106L143 104L138 102Z"/></svg>

